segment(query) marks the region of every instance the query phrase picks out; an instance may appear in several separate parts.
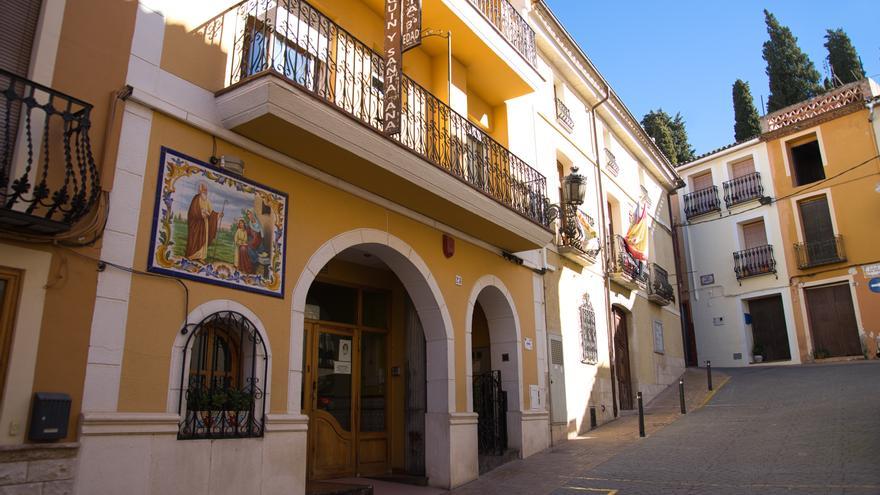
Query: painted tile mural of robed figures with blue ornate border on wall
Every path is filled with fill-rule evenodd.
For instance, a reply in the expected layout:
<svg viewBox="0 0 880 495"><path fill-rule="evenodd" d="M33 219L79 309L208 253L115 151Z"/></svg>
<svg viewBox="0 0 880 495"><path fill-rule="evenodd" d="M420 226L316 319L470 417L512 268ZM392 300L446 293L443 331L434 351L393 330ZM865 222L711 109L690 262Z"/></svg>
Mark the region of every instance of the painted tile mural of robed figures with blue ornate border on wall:
<svg viewBox="0 0 880 495"><path fill-rule="evenodd" d="M163 147L147 269L284 297L287 195Z"/></svg>

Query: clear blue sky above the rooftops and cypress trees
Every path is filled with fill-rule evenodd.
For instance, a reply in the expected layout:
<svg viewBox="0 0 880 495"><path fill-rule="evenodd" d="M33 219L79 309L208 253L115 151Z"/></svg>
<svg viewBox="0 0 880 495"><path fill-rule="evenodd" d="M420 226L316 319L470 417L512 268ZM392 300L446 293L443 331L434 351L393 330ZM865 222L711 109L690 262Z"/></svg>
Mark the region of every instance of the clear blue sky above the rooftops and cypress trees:
<svg viewBox="0 0 880 495"><path fill-rule="evenodd" d="M733 142L731 86L749 83L755 106L769 93L761 48L763 9L791 28L825 74L825 30L843 28L868 76L880 78L877 0L546 0L639 119L681 112L697 153Z"/></svg>

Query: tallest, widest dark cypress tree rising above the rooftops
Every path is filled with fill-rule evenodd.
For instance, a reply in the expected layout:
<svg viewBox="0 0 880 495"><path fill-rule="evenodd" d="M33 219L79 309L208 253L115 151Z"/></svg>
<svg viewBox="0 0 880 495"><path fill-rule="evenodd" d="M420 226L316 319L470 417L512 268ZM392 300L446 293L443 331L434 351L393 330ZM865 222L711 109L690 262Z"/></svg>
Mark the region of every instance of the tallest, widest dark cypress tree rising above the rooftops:
<svg viewBox="0 0 880 495"><path fill-rule="evenodd" d="M764 21L770 35L764 42L764 60L770 79L767 110L775 112L822 93L819 71L798 47L791 30L779 24L776 16L767 10L764 10Z"/></svg>

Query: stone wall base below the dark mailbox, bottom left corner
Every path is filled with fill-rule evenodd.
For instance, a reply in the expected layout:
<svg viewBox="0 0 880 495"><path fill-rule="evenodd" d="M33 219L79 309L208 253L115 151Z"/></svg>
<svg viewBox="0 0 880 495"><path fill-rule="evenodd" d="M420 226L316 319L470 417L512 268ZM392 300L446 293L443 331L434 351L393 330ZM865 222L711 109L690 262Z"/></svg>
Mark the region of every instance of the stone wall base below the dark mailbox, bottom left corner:
<svg viewBox="0 0 880 495"><path fill-rule="evenodd" d="M77 443L0 446L0 495L68 495Z"/></svg>

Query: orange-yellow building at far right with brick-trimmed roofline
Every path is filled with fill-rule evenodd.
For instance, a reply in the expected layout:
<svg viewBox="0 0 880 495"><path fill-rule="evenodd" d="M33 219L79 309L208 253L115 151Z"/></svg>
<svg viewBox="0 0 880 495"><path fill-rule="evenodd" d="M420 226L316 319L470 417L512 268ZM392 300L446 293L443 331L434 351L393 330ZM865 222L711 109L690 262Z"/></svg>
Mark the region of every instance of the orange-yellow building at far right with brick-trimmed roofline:
<svg viewBox="0 0 880 495"><path fill-rule="evenodd" d="M877 354L877 95L863 79L762 119L803 361Z"/></svg>

